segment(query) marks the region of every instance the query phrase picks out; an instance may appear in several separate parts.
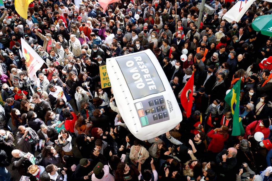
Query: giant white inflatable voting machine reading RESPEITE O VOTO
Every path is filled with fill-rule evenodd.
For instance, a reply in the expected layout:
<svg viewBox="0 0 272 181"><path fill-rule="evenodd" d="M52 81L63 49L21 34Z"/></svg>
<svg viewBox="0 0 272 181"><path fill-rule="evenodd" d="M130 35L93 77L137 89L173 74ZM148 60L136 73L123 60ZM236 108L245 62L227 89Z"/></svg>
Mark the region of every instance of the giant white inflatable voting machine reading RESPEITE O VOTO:
<svg viewBox="0 0 272 181"><path fill-rule="evenodd" d="M107 72L120 114L136 138L154 138L182 121L172 88L151 50L107 59Z"/></svg>

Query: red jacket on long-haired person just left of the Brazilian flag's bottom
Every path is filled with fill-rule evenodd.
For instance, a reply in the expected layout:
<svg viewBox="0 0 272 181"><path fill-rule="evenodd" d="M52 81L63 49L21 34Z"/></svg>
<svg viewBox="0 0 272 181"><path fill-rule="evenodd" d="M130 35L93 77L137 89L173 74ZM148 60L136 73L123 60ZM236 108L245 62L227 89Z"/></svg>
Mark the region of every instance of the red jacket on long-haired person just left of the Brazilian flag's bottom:
<svg viewBox="0 0 272 181"><path fill-rule="evenodd" d="M219 153L224 148L224 143L226 140L228 140L228 135L226 138L223 138L223 135L216 133L214 130L211 130L208 132L207 136L212 138L212 141L210 142L208 146L208 150L212 151L213 153Z"/></svg>

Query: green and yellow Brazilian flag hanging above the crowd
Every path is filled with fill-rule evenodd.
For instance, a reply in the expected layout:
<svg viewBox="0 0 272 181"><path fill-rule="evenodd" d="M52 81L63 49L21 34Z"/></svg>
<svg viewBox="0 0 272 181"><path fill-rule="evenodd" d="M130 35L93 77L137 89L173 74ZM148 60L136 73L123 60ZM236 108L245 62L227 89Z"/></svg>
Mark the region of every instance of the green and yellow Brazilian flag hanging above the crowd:
<svg viewBox="0 0 272 181"><path fill-rule="evenodd" d="M226 95L225 101L231 107L231 114L233 117L232 136L244 135L244 128L240 117L240 87L241 78L236 82L231 91Z"/></svg>

